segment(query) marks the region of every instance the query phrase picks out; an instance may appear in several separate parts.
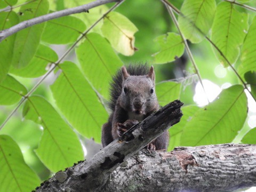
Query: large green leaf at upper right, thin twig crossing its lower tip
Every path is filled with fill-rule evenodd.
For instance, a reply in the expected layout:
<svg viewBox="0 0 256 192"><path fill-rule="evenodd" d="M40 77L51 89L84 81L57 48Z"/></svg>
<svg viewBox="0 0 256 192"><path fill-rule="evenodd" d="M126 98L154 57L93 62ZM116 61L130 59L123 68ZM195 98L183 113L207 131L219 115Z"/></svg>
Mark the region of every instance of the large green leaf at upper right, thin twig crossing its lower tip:
<svg viewBox="0 0 256 192"><path fill-rule="evenodd" d="M212 42L231 64L239 57L239 46L244 41L248 19L249 15L236 11L233 3L221 2L217 6L212 26ZM223 66L228 67L227 61L213 49Z"/></svg>

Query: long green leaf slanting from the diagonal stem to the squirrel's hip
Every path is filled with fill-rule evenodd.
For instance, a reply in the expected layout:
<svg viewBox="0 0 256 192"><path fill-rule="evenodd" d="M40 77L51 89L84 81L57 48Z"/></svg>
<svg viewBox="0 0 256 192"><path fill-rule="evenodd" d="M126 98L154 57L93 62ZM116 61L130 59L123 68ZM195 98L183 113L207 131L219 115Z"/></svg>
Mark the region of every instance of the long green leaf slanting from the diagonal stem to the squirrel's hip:
<svg viewBox="0 0 256 192"><path fill-rule="evenodd" d="M108 118L105 108L74 63L59 67L62 73L51 85L57 106L79 133L100 142L101 126Z"/></svg>

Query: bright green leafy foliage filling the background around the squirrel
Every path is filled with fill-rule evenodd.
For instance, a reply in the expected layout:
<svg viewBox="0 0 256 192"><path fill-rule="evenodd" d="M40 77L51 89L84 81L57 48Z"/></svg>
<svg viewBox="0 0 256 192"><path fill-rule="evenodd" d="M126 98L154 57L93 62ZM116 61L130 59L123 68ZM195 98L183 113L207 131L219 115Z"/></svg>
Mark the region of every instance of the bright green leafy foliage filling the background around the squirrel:
<svg viewBox="0 0 256 192"><path fill-rule="evenodd" d="M0 30L39 15L90 1L59 0L53 3L47 0L36 0L22 5L23 2L23 0L0 1L0 9L21 5L14 10L0 10ZM147 1L144 3L147 6ZM154 5L155 3L151 2ZM137 4L139 6L139 2ZM164 8L160 1L156 5ZM170 129L169 150L180 145L196 146L232 142L243 130L246 122L247 98L244 89L249 90L248 86L250 86L250 91L254 99L256 98L256 19L253 18L252 12L243 9L242 5L238 6L228 1L185 0L180 1L178 8L180 8L178 22L185 38L197 44L202 41L204 43L207 37L213 43L209 55L214 52L218 59L215 61L222 63L223 67L229 67L235 63L234 70L238 73L235 75L235 81L232 82L233 86L222 90L217 99L203 108L196 107L189 101L191 94L188 99L182 93L187 86L193 87L193 84L186 83L189 78L177 79L177 82L157 82L156 93L160 105L180 97L184 98L186 105L183 108L184 116L181 122ZM179 30L167 30L162 27L165 34L159 33L158 26L161 22L158 19L154 23L154 31L146 31L148 36L146 34L137 36L138 42L143 35L145 38L149 37L147 41L150 41L150 46L148 46L149 42L146 42L145 46L139 47L134 54L137 50L135 48L137 31L140 33L144 30L143 27L150 29L149 23L153 22L147 18L150 10L148 10L149 14L141 10L136 12L138 14L136 17L145 16L142 19L149 22L145 25L145 21L143 24L140 23L141 18L138 20L132 18L133 10L131 10L131 18L125 17L122 14L122 12L125 13L125 9L122 10L121 5L119 13L110 12L100 20L97 26L86 31L106 10L108 7L101 5L90 10L90 13L69 15L43 22L23 29L0 43L0 105L10 106L1 107L1 109L3 108L3 111L14 109L14 105L18 105L20 101L22 117L18 118L22 121L23 118L26 119L22 123L26 124L30 120L34 122L34 127L31 126L31 129L36 130L37 126L43 129L40 140L33 140L31 135L27 134L28 137L25 136L27 141L24 140L21 143L17 139L17 134L8 130L14 129L19 133L22 132L20 129L23 129L23 126L15 124L15 128L10 128L14 126L9 124L14 118L13 115L9 119L4 112L1 112L0 122L3 123L5 120L9 122L0 130L0 167L1 171L7 174L6 177L3 177L2 172L0 174L2 175L0 191L6 191L8 183L13 183L8 191L29 191L39 185L38 177L26 164L29 164L29 161L24 162L19 146L24 144L32 146L30 141L33 140L33 146L37 146L35 150L37 157L35 154L34 156L39 157L36 161L41 161L47 169L56 172L84 158L78 134L80 138L93 138L96 142L100 142L101 125L108 118L109 81L116 70L129 60L123 55L133 55L131 58L138 59L142 55L140 53L150 50L150 54L145 58L155 63L156 77L159 81L159 79L168 80L168 78L164 78L162 74L165 71L161 73L162 66L157 64L169 63L170 66L172 65L170 62L181 57L185 52L185 44L181 35L178 34ZM146 9L145 12L147 12ZM168 14L166 10L163 12ZM159 18L164 20L166 15L160 15ZM166 21L164 25L169 25L168 22ZM86 34L83 34L84 31ZM83 37L77 42L82 34ZM154 38L151 38L153 36ZM65 44L67 47L76 44L73 62L64 61L62 55L60 55L61 60L58 60L59 53L54 51L52 44ZM138 44L141 45L141 43ZM201 46L204 45L200 43L196 46L195 55L202 51ZM152 55L151 58L149 58L150 55ZM200 70L204 67L211 68L210 65L209 62L204 62L204 66L198 67ZM33 84L35 77L45 74L45 77L48 77L50 75L47 71L54 68L58 70L54 70L56 78L50 86L47 84L38 87L40 84ZM213 71L209 70L207 73L211 76ZM198 73L196 75L199 76ZM19 109L15 111L21 114ZM38 133L41 134L39 129ZM256 143L255 129L244 135L245 133L242 135L242 142ZM33 167L33 165L30 166ZM46 170L44 167L42 169ZM26 177L22 177L24 172ZM37 170L37 173L41 174L42 170ZM41 175L41 177L47 176Z"/></svg>

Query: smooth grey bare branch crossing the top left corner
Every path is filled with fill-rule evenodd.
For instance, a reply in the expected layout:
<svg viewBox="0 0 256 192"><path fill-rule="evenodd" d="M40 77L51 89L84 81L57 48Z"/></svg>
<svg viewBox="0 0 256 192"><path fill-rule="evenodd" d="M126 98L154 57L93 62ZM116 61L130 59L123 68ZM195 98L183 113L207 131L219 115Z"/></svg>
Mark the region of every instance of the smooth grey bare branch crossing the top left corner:
<svg viewBox="0 0 256 192"><path fill-rule="evenodd" d="M81 6L73 7L70 9L49 13L49 14L42 15L37 18L33 18L33 19L29 19L27 21L20 22L19 24L12 26L9 29L0 31L0 42L3 41L3 39L9 37L10 35L17 33L18 31L25 29L27 27L36 25L38 23L42 23L45 21L49 21L51 19L56 19L59 17L70 15L70 14L88 12L93 7L97 7L97 6L111 3L111 2L118 2L118 0L97 0L97 1L93 1L91 3L88 3L86 5L81 5Z"/></svg>

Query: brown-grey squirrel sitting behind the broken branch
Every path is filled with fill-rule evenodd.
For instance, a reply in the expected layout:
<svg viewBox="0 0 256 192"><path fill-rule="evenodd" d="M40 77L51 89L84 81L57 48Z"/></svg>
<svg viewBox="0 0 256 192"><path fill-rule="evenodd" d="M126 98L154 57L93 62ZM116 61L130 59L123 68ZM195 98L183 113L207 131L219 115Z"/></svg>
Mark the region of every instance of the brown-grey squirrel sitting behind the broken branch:
<svg viewBox="0 0 256 192"><path fill-rule="evenodd" d="M102 146L114 139L159 109L155 92L155 71L153 66L129 65L118 70L110 83L109 108L111 115L102 126ZM166 150L169 133L165 131L147 149Z"/></svg>

